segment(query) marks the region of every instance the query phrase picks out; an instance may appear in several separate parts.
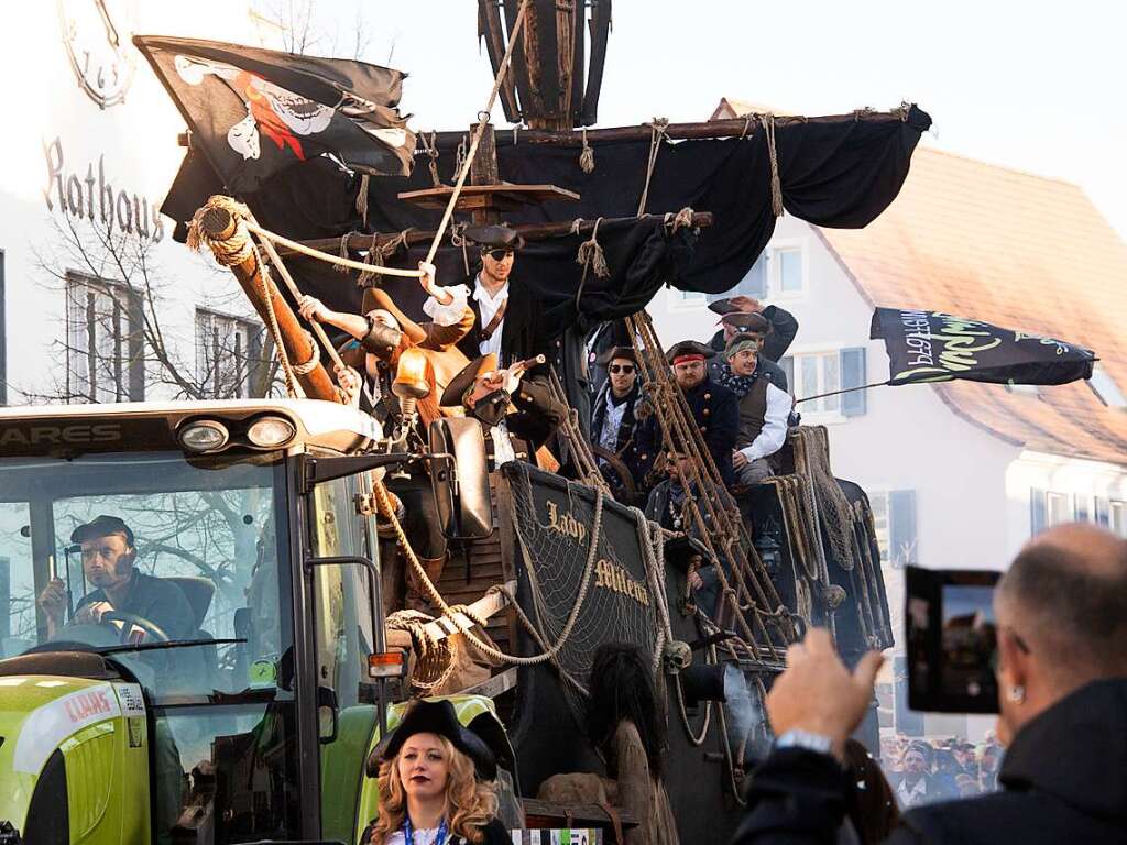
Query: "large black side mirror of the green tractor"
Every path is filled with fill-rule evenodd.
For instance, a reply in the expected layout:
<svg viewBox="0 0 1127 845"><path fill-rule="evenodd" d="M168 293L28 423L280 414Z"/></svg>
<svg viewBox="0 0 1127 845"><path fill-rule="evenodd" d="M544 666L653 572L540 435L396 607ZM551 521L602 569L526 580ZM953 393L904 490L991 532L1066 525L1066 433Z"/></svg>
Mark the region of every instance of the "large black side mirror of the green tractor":
<svg viewBox="0 0 1127 845"><path fill-rule="evenodd" d="M480 422L443 417L431 424L431 483L447 539L479 540L492 534L489 466Z"/></svg>

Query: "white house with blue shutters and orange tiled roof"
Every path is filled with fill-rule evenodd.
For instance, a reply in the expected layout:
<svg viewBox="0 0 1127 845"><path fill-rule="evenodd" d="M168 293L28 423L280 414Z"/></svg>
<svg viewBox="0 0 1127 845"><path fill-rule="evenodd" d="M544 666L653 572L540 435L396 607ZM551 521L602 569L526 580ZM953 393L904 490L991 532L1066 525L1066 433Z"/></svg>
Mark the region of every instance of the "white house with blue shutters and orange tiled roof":
<svg viewBox="0 0 1127 845"><path fill-rule="evenodd" d="M882 341L869 339L876 306L977 318L1100 357L1091 382L1065 386L881 386L798 406L827 426L835 474L872 500L898 635L905 563L1001 569L1031 533L1072 519L1127 533L1127 246L1077 187L921 148L877 221L781 219L738 291L798 318L782 362L797 398L888 379ZM711 337L710 299L664 291L649 308L658 335ZM907 732L990 727L924 726L905 702L896 715Z"/></svg>

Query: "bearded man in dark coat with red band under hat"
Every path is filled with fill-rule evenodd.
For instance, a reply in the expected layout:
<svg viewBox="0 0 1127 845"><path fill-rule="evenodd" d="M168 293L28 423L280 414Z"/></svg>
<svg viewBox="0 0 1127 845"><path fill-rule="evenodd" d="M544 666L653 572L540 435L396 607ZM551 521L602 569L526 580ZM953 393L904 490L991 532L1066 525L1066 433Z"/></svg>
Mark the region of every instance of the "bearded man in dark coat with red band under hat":
<svg viewBox="0 0 1127 845"><path fill-rule="evenodd" d="M731 452L739 433L739 408L736 394L709 375L708 361L716 357L711 348L695 340L682 340L666 353L673 377L693 412L693 420L704 437L704 445L726 484L735 474Z"/></svg>

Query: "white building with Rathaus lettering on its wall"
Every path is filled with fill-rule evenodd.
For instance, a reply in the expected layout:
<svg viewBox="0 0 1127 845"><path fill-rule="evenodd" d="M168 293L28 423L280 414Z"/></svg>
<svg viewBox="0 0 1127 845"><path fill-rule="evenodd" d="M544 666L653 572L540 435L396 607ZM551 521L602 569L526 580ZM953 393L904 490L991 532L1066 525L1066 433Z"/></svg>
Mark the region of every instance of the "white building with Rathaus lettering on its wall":
<svg viewBox="0 0 1127 845"><path fill-rule="evenodd" d="M219 0L60 0L7 17L0 402L185 395L162 355L194 389L245 395L261 329L230 274L157 212L184 121L132 37L257 44L265 23Z"/></svg>

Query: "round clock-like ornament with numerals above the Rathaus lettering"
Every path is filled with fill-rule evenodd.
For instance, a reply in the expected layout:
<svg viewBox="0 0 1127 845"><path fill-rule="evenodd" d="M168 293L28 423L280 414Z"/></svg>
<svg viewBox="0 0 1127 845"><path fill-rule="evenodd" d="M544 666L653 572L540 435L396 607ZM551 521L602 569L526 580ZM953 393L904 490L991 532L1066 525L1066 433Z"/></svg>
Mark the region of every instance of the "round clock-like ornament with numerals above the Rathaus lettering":
<svg viewBox="0 0 1127 845"><path fill-rule="evenodd" d="M63 44L79 86L101 108L125 99L133 81L130 0L59 0ZM122 8L118 8L121 6ZM110 15L110 7L114 14Z"/></svg>

